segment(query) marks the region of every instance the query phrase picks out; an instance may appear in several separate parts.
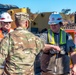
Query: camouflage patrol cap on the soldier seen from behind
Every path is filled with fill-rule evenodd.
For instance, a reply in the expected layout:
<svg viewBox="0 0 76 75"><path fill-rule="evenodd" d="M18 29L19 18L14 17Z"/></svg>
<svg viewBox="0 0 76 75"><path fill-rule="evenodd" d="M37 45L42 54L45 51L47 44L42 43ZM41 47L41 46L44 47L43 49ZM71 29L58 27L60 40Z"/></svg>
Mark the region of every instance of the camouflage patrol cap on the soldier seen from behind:
<svg viewBox="0 0 76 75"><path fill-rule="evenodd" d="M17 21L29 20L29 14L24 12L18 12L15 14L15 19Z"/></svg>

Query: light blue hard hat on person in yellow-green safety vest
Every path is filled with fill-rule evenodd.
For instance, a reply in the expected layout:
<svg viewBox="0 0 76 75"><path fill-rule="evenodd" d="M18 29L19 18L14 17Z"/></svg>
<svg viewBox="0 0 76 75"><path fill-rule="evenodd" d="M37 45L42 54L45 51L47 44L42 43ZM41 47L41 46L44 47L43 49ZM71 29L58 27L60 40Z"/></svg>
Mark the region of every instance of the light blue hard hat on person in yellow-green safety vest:
<svg viewBox="0 0 76 75"><path fill-rule="evenodd" d="M49 21L48 21L49 25L59 24L62 22L63 22L62 16L59 13L54 12L49 16Z"/></svg>

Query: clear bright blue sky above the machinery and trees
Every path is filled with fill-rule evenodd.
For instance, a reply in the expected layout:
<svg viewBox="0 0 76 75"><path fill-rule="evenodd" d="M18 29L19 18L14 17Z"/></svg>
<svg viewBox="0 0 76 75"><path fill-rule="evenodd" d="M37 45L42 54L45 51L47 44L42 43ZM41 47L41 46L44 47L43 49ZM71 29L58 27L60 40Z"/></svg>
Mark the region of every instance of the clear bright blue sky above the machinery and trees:
<svg viewBox="0 0 76 75"><path fill-rule="evenodd" d="M1 4L12 4L19 8L29 8L31 12L61 12L62 9L76 11L76 0L0 0Z"/></svg>

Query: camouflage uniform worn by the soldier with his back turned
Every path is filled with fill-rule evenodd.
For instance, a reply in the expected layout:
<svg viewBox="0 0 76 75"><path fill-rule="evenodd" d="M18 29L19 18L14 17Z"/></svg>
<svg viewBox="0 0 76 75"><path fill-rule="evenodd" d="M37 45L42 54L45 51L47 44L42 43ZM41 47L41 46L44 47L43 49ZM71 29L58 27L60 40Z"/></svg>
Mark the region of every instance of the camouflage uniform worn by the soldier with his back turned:
<svg viewBox="0 0 76 75"><path fill-rule="evenodd" d="M19 20L28 18L25 14L20 16ZM34 75L34 60L43 47L40 38L25 28L16 28L0 45L0 66L4 66L4 75Z"/></svg>

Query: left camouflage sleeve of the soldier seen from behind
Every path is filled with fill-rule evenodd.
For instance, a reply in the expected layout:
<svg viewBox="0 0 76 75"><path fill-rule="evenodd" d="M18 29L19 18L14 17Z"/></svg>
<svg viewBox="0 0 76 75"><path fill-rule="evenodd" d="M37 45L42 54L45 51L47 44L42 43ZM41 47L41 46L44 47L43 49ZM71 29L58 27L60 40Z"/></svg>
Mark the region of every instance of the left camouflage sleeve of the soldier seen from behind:
<svg viewBox="0 0 76 75"><path fill-rule="evenodd" d="M8 55L8 38L4 38L0 43L0 69L4 68L5 58Z"/></svg>

